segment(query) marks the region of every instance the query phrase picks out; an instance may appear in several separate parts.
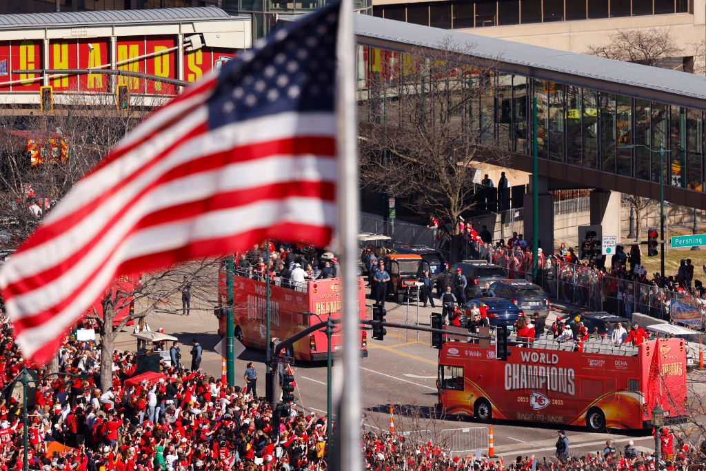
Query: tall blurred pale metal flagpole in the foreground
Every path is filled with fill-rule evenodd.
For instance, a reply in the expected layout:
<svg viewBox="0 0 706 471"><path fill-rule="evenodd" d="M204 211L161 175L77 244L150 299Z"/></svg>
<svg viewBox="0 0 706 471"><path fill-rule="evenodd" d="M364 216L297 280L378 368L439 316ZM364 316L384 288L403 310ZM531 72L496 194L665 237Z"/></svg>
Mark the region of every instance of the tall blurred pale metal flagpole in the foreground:
<svg viewBox="0 0 706 471"><path fill-rule="evenodd" d="M357 311L357 239L359 182L357 126L355 116L355 49L353 41L353 3L340 5L337 57L337 134L338 134L338 237L342 258L343 354L340 403L337 407L336 434L338 463L330 469L360 471L363 468L360 449L360 342Z"/></svg>

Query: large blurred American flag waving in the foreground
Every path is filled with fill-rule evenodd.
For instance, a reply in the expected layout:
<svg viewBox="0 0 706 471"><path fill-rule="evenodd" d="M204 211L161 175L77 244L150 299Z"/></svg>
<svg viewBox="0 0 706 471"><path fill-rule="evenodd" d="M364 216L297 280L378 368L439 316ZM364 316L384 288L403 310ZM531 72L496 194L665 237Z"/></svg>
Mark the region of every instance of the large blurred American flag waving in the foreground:
<svg viewBox="0 0 706 471"><path fill-rule="evenodd" d="M0 270L25 357L46 361L116 275L325 245L335 194L338 2L256 42L136 127Z"/></svg>

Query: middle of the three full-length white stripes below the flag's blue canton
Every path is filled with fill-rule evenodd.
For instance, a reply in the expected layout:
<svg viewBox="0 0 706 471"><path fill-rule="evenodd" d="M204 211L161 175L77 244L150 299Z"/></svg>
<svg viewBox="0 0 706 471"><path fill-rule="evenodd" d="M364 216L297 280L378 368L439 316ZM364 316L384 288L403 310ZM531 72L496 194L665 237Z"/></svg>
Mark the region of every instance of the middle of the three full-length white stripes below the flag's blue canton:
<svg viewBox="0 0 706 471"><path fill-rule="evenodd" d="M297 181L302 176L308 177L310 181L335 183L336 172L337 165L331 157L311 155L301 157L273 156L233 164L225 168L213 169L210 172L190 174L184 178L156 186L155 189L140 197L140 200L136 202L131 211L109 227L104 232L104 237L97 244L91 246L90 251L76 265L69 268L60 277L45 283L37 290L20 294L18 297L35 299L35 302L32 303L32 312L44 311L54 306L59 301L56 301L54 297L47 296L47 290L57 294L63 293L62 297L66 293L76 290L80 280L90 277L91 273L102 263L100 259L100 254L104 253L102 251L107 250L112 244L116 244L125 237L131 227L147 213L153 213L157 210L171 208L191 201L199 201L213 195L213 193L249 189L253 186L265 184L286 184L287 181ZM248 181L241 178L244 174L261 175L262 177L256 181ZM87 218L85 223L88 224L87 230L95 229L92 226L91 219ZM74 229L72 228L68 232L73 233ZM42 250L47 251L49 254L59 254L65 249L64 244L68 244L71 240L81 235L78 229L76 229L76 234L73 235L62 234L51 239L46 244L42 244ZM87 244L85 241L79 242L83 245ZM31 252L28 252L28 254L31 254ZM130 256L130 258L133 257ZM24 267L24 264L21 266ZM34 294L37 294L37 296L33 296Z"/></svg>

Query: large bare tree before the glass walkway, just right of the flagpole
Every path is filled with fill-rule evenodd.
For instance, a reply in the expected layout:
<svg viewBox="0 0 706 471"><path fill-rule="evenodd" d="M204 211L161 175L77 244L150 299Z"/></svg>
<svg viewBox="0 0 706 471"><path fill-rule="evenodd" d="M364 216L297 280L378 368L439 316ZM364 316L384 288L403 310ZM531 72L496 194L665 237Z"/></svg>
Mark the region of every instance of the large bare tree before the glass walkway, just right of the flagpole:
<svg viewBox="0 0 706 471"><path fill-rule="evenodd" d="M471 49L447 41L423 56L385 56L359 118L362 186L448 218L454 233L472 208L477 165L504 157L491 114L503 84L495 61L469 64Z"/></svg>

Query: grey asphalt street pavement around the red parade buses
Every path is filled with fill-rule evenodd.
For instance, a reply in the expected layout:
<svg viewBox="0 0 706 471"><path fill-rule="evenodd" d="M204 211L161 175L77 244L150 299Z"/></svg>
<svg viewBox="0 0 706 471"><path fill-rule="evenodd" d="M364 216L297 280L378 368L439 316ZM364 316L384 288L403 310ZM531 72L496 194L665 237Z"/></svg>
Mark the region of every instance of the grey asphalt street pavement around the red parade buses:
<svg viewBox="0 0 706 471"><path fill-rule="evenodd" d="M213 287L212 290L215 290ZM212 296L213 295L213 296ZM216 299L215 291L206 293L202 299ZM367 300L368 317L371 318L373 301ZM432 311L416 303L398 305L386 303L387 320L397 323L429 326ZM138 308L139 309L139 308ZM165 333L176 335L181 343L181 363L188 367L191 362L190 350L193 338L203 346L202 370L210 375L221 374L222 359L213 348L220 341L217 335L217 319L213 314L213 303L203 300L193 303L190 316L181 316L181 298L162 300L160 309L148 316L152 330L164 328ZM417 314L417 311L419 314ZM487 427L486 424L460 417L439 417L436 412L436 371L438 350L431 348L429 333L412 330L387 328L384 341L372 340L368 334L368 357L361 360L361 387L366 431L388 431L390 405L395 405L395 427L397 433L408 434L409 439L427 441L451 434L451 429ZM116 340L119 350L135 350L136 342L129 334L132 328L124 329ZM255 362L260 375L258 394L264 395L265 364L264 352L244 350L236 359L236 384L243 386L242 375L247 362ZM338 360L334 360L334 374ZM294 368L297 389L294 392L297 404L308 412L318 415L326 413L326 365L325 362L305 364L298 362ZM646 431L610 431L604 434L591 434L581 427L564 427L570 439L572 453L589 453L602 450L606 440L623 448L629 440L638 446L652 447L654 439ZM557 434L556 425L527 424L526 422L493 422L495 454L504 459L517 455L550 457L554 454ZM443 439L442 439L443 441ZM464 448L463 445L459 445ZM465 448L469 448L465 446ZM474 454L473 450L463 454Z"/></svg>

